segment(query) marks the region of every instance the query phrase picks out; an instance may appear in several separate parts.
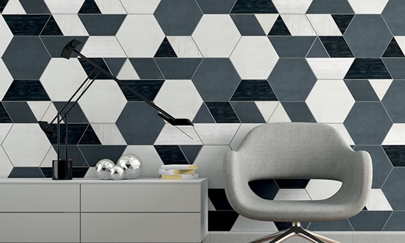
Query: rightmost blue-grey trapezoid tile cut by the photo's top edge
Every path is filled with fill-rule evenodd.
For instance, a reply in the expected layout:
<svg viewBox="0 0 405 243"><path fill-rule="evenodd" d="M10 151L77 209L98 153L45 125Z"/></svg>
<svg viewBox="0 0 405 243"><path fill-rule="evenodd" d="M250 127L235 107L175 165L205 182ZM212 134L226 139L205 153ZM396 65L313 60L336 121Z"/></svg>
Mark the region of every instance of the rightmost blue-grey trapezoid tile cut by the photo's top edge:
<svg viewBox="0 0 405 243"><path fill-rule="evenodd" d="M347 0L313 0L306 13L355 13Z"/></svg>

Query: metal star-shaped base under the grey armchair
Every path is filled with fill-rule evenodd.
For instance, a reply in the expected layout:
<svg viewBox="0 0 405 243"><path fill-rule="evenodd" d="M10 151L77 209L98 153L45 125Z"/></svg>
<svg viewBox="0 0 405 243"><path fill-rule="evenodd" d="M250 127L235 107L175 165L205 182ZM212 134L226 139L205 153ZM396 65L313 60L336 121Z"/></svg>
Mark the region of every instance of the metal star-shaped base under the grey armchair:
<svg viewBox="0 0 405 243"><path fill-rule="evenodd" d="M270 234L265 237L261 237L260 239L256 239L253 242L249 243L261 243L261 242L279 243L284 242L286 239L295 236L303 237L304 239L308 239L308 241L315 243L339 243L333 239L329 239L327 237L323 237L322 235L315 234L314 232L303 229L301 227L300 222L293 222L293 225L289 229L285 229L281 232L276 232L275 234Z"/></svg>

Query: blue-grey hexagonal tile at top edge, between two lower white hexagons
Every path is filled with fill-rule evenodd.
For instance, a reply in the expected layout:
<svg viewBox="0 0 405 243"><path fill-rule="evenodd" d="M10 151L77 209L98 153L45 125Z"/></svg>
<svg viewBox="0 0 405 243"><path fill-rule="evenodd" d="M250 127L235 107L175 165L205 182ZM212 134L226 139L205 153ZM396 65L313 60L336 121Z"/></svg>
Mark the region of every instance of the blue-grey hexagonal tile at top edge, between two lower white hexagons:
<svg viewBox="0 0 405 243"><path fill-rule="evenodd" d="M200 6L189 0L161 0L153 14L166 36L190 36L202 16Z"/></svg>

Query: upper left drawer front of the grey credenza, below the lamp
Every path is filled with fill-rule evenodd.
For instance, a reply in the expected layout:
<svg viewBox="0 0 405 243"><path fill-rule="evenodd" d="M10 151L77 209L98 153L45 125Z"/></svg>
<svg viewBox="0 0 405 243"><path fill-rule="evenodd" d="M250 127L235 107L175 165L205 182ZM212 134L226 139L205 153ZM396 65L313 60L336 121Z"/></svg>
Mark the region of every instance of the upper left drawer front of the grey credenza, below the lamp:
<svg viewBox="0 0 405 243"><path fill-rule="evenodd" d="M0 212L79 212L80 185L0 184Z"/></svg>

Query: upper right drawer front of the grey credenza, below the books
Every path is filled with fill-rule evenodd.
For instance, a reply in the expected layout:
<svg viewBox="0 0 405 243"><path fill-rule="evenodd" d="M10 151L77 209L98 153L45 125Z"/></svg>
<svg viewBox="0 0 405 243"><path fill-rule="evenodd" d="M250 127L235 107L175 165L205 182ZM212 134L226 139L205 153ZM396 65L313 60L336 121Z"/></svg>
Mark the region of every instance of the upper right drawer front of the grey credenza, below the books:
<svg viewBox="0 0 405 243"><path fill-rule="evenodd" d="M84 184L82 212L200 212L196 183Z"/></svg>

